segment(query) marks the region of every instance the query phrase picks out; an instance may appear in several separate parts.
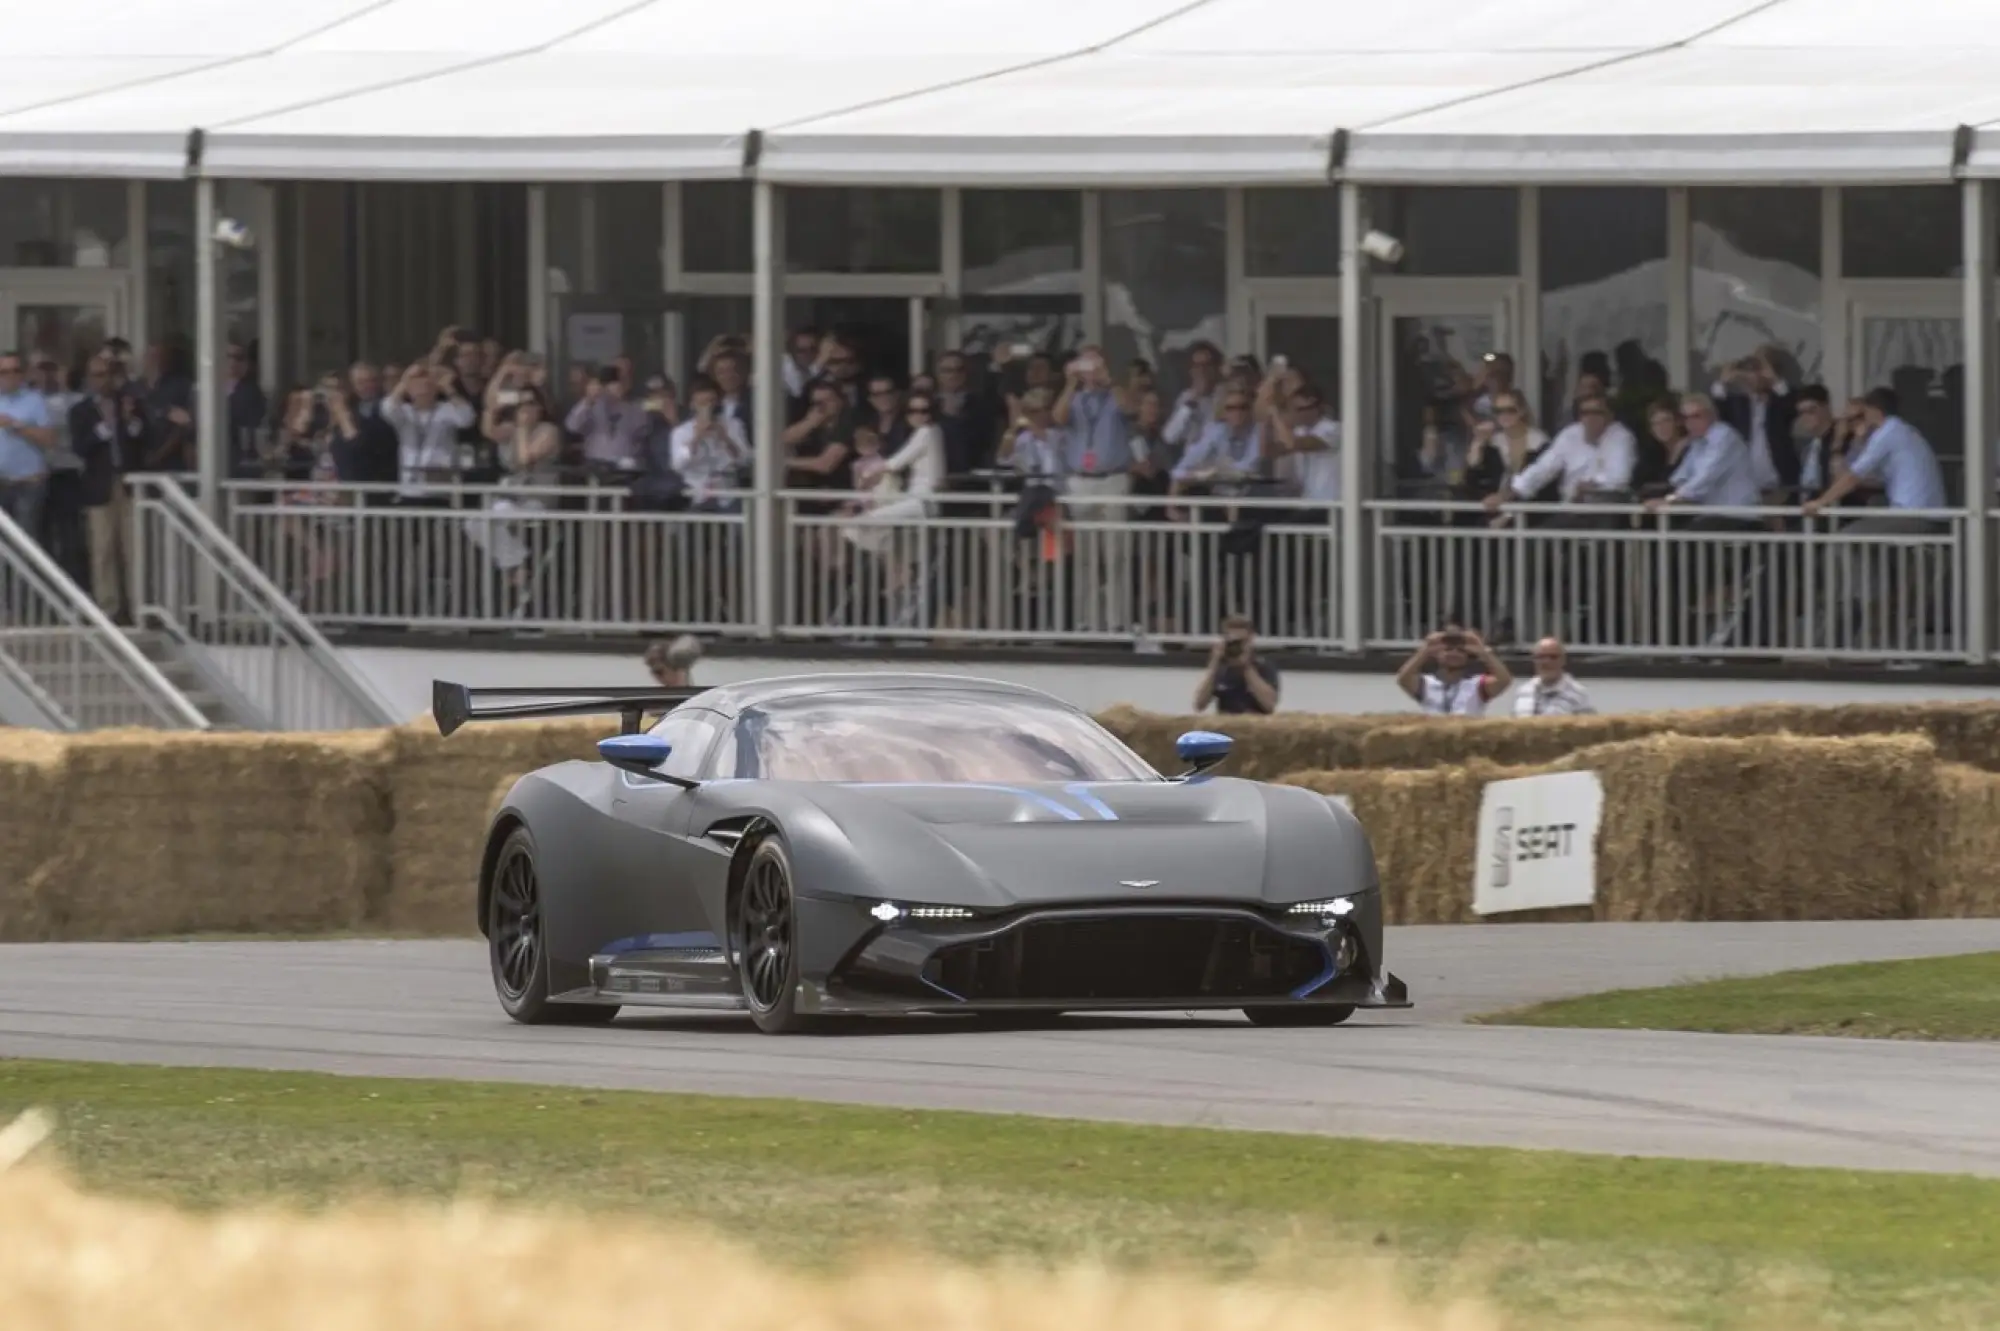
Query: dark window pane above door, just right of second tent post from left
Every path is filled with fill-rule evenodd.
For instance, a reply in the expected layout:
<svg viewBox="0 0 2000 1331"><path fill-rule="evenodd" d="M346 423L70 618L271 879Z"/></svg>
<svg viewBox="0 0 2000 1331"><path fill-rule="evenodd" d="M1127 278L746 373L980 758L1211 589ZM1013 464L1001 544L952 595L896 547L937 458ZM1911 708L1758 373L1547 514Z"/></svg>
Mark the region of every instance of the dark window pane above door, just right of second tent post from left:
<svg viewBox="0 0 2000 1331"><path fill-rule="evenodd" d="M784 190L792 272L938 272L944 202L936 190L812 186Z"/></svg>

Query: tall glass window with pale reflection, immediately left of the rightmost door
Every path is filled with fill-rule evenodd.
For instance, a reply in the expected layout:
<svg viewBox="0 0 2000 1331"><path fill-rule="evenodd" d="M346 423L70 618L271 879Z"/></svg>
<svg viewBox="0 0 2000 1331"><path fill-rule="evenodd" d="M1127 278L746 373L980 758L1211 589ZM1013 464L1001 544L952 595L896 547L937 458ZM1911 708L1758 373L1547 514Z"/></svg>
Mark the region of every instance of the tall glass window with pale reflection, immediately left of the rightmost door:
<svg viewBox="0 0 2000 1331"><path fill-rule="evenodd" d="M1694 190L1694 346L1688 382L1712 384L1766 352L1790 384L1824 382L1820 332L1820 192Z"/></svg>

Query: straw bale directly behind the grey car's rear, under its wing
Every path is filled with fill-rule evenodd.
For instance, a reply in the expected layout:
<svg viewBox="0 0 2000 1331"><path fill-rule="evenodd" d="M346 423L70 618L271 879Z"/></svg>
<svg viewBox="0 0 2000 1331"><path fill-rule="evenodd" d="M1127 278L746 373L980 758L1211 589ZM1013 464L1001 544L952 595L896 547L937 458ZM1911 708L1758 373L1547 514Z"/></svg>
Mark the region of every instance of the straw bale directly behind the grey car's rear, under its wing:
<svg viewBox="0 0 2000 1331"><path fill-rule="evenodd" d="M494 783L570 757L592 759L598 739L616 733L616 717L494 721L450 737L428 719L400 725L390 841L396 867L386 923L470 933Z"/></svg>

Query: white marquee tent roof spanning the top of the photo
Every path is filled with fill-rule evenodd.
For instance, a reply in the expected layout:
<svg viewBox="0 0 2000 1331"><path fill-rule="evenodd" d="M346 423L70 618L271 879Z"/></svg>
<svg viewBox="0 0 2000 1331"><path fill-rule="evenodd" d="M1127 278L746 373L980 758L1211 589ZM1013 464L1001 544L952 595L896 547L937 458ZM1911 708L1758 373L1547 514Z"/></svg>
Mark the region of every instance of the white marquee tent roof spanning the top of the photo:
<svg viewBox="0 0 2000 1331"><path fill-rule="evenodd" d="M1994 0L12 8L14 176L182 176L196 130L218 178L2000 176Z"/></svg>

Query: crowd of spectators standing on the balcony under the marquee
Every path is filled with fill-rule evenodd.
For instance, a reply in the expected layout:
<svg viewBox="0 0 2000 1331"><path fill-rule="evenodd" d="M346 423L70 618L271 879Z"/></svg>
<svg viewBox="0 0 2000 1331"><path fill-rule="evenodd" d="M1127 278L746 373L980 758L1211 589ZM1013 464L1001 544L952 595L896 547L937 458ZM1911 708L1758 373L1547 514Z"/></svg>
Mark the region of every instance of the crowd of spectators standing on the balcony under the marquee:
<svg viewBox="0 0 2000 1331"><path fill-rule="evenodd" d="M686 384L642 376L630 358L568 366L556 382L540 356L464 328L446 328L406 364L354 364L276 400L254 366L256 348L228 348L234 478L270 482L270 504L478 510L462 534L520 594L516 606L528 604L536 558L534 524L522 518L574 504L564 492L588 486L632 512L722 516L740 512L754 482L754 368L742 336L708 344ZM1162 392L1154 366L1114 366L1098 346L950 350L908 376L868 364L854 338L798 330L778 370L778 480L808 494L788 504L796 530L786 546L804 614L858 630L1008 622L1144 642L1244 612L1276 636L1332 634L1324 570L1342 496L1340 424L1322 386L1284 356L1260 364L1198 342L1186 352L1186 384ZM1882 506L1848 514L1852 530L1922 534L1936 524L1910 514L1948 504L1936 454L1892 390L1836 404L1824 388L1792 382L1796 370L1776 350L1678 396L1658 366L1638 362L1614 382L1608 358L1586 356L1574 394L1546 424L1504 354L1476 370L1432 356L1422 374L1424 428L1404 470L1440 504L1400 514L1400 526L1586 534L1664 520L1750 536L1796 530L1874 494ZM122 476L194 468L192 398L186 358L166 348L136 366L114 340L78 374L0 356L0 502L108 614L130 612ZM314 488L324 482L370 492L356 500ZM1624 508L1586 508L1604 504ZM1680 518L1684 508L1736 512ZM910 524L924 516L1012 518L1016 540L920 534ZM1186 526L1162 542L1120 532L1128 522ZM1266 540L1272 526L1284 534L1276 542ZM714 530L728 540L708 552L710 574L728 582L746 558L734 544L742 530ZM664 544L648 550L642 562L668 558ZM1516 566L1498 546L1470 550L1450 614L1492 624L1502 644L1538 636L1546 626L1510 618ZM1658 570L1610 542L1576 550L1606 568L1586 576L1578 560L1546 562L1536 574L1548 584L1544 604L1564 606L1570 628L1594 642L1660 630L1648 622ZM1020 576L988 578L996 560ZM1758 586L1774 592L1774 576L1758 574ZM632 578L642 594L666 582ZM1430 596L1410 576L1392 582ZM1690 596L1712 592L1704 582ZM1032 616L992 606L994 596L1030 598Z"/></svg>

